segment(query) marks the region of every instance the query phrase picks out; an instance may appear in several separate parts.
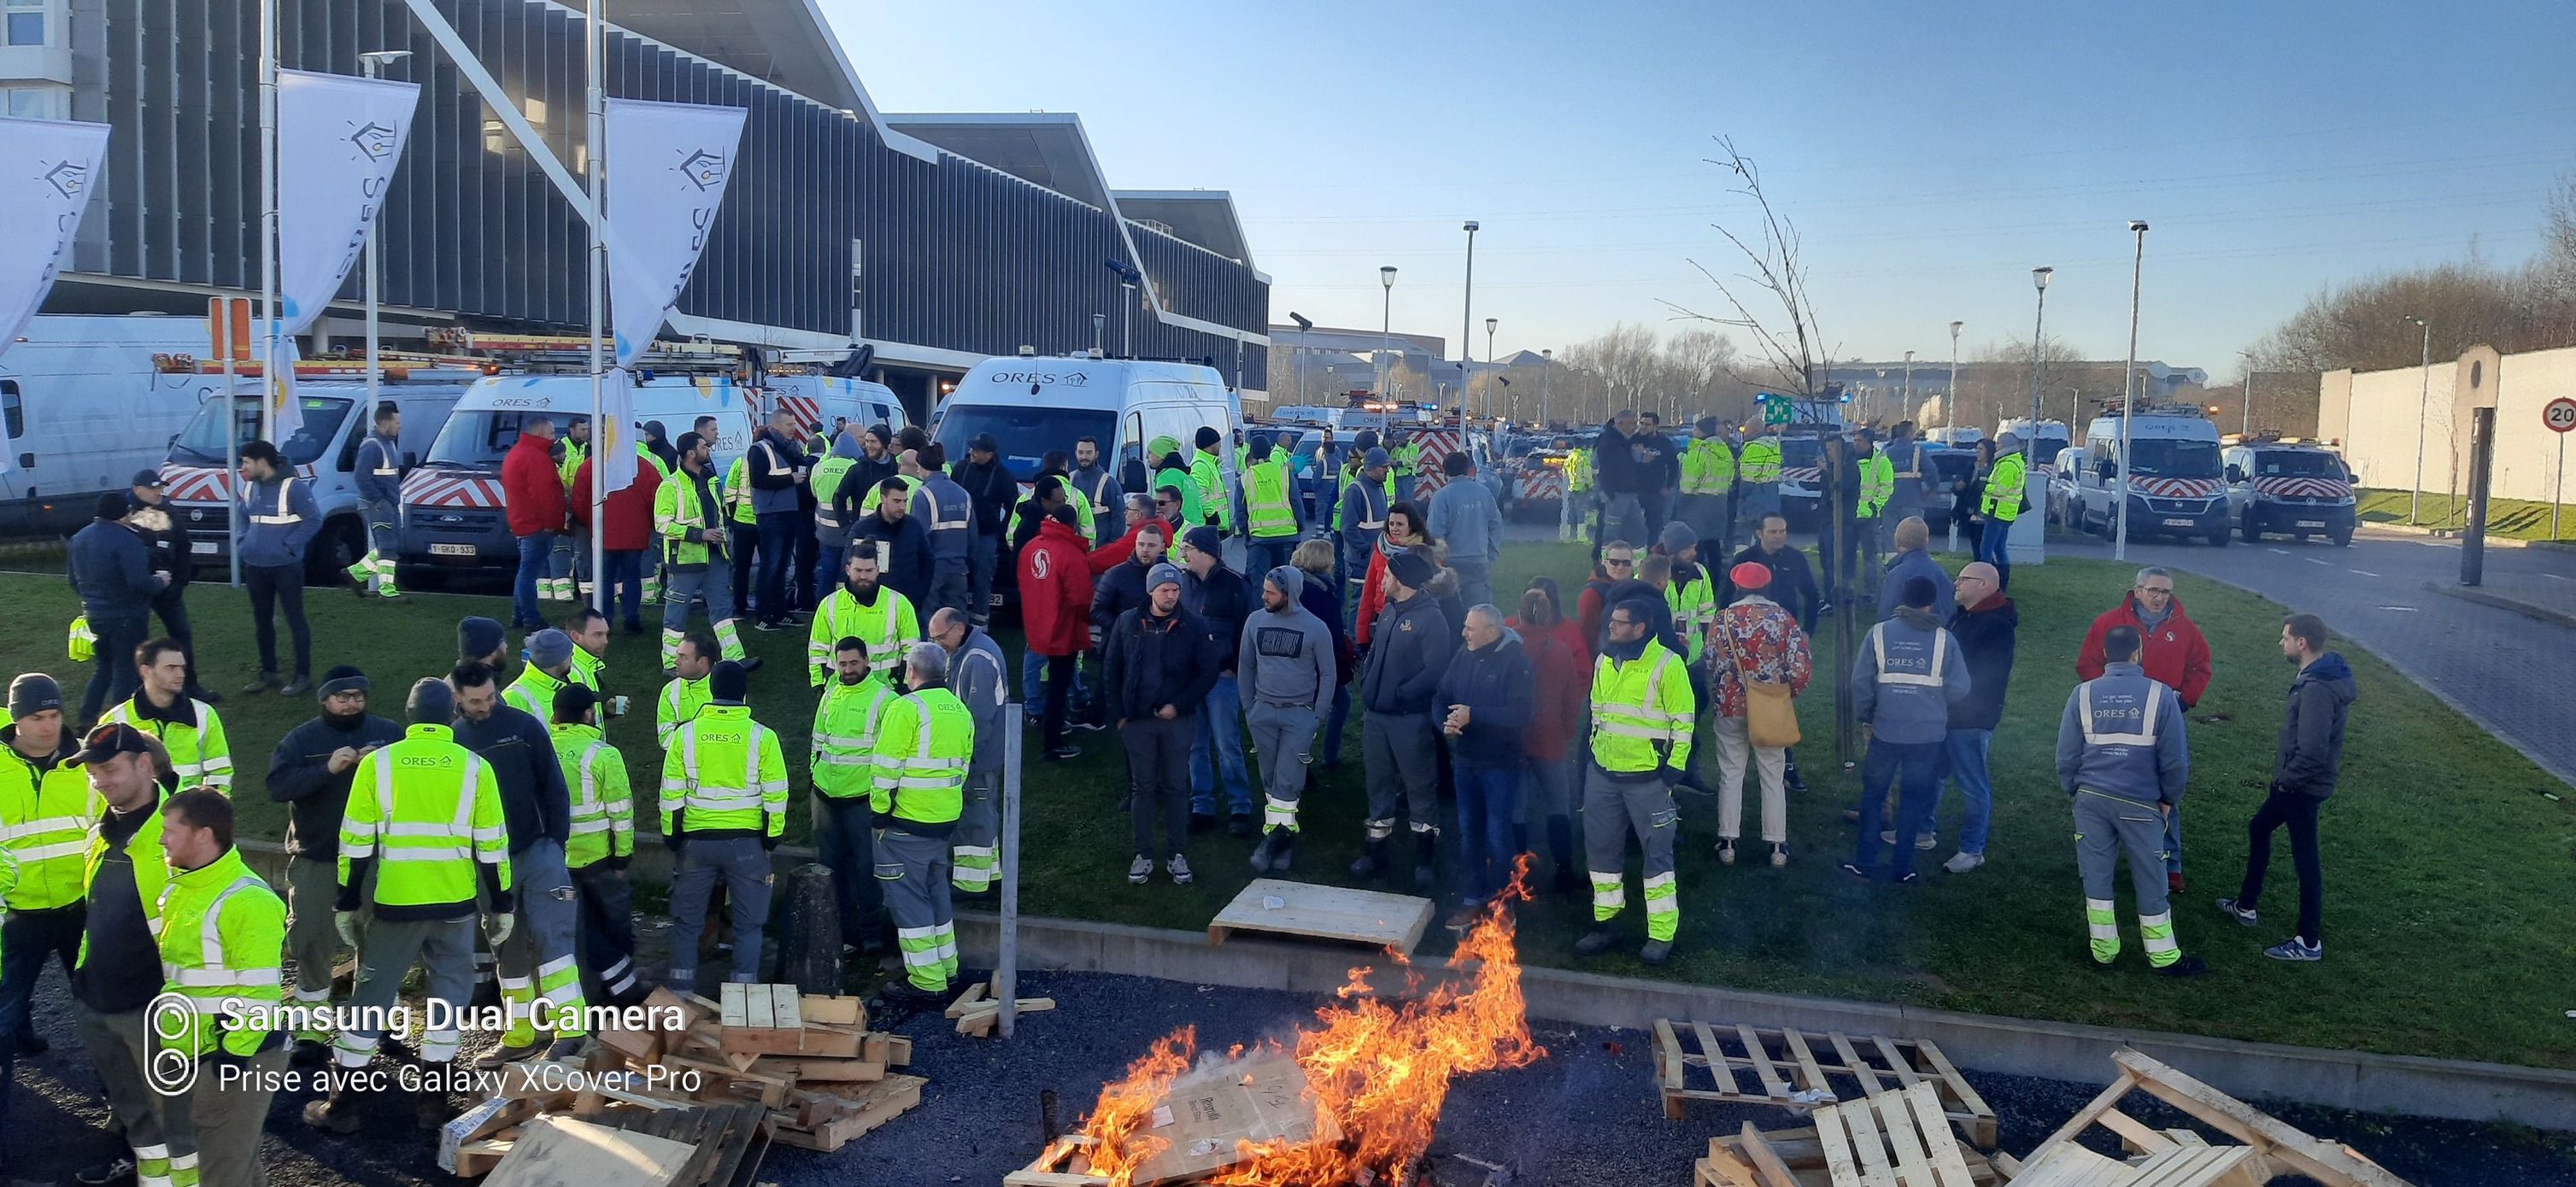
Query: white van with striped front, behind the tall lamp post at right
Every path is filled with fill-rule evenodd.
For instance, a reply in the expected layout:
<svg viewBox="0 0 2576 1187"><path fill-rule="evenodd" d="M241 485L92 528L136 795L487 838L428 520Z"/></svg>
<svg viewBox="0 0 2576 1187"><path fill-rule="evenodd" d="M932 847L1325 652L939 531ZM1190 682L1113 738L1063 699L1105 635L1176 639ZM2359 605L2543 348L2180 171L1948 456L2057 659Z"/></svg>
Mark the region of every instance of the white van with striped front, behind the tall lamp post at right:
<svg viewBox="0 0 2576 1187"><path fill-rule="evenodd" d="M2228 543L2228 492L2221 481L2218 425L2192 404L2141 407L2128 422L2128 536L2200 536ZM2084 430L2076 476L2076 530L2110 536L2120 507L2120 417Z"/></svg>

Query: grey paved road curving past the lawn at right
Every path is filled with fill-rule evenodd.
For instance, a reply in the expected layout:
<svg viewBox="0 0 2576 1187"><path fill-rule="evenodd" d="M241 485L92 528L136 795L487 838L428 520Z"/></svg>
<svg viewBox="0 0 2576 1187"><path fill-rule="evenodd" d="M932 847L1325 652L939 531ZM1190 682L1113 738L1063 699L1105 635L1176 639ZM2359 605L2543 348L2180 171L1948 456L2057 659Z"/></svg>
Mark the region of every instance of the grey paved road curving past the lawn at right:
<svg viewBox="0 0 2576 1187"><path fill-rule="evenodd" d="M2050 538L2053 554L2110 556L2089 538ZM2349 548L2326 541L2130 543L2138 564L2190 569L2316 613L2434 690L2470 721L2576 783L2576 628L2478 605L2460 587L2460 543L2365 528ZM2488 548L2486 592L2576 613L2576 554Z"/></svg>

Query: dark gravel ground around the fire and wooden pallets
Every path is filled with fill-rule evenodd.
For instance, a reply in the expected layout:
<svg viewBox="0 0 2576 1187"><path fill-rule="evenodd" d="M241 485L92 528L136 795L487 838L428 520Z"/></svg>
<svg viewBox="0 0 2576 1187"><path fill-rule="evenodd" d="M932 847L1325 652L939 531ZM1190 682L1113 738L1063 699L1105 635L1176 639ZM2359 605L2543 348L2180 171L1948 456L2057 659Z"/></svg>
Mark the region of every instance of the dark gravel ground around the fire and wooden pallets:
<svg viewBox="0 0 2576 1187"><path fill-rule="evenodd" d="M922 1105L840 1154L773 1148L762 1182L778 1187L945 1187L999 1184L1038 1151L1038 1092L1056 1089L1074 1123L1146 1043L1180 1025L1198 1025L1200 1051L1288 1038L1316 1007L1309 994L1190 986L1105 973L1036 973L1020 996L1054 996L1056 1009L1028 1014L1010 1043L958 1038L938 1012L881 1014L881 1025L914 1035L912 1071L930 1076ZM72 1033L70 994L46 976L36 1025L54 1051L21 1061L18 1092L0 1151L13 1182L70 1182L80 1166L121 1154L106 1130L106 1105ZM1649 1035L1610 1027L1533 1027L1548 1056L1528 1069L1466 1076L1453 1084L1435 1151L1512 1164L1520 1184L1669 1184L1690 1182L1690 1161L1710 1136L1744 1120L1795 1128L1790 1112L1692 1102L1667 1123L1651 1089ZM469 1035L477 1051L489 1035ZM2007 1151L2030 1151L2097 1087L1968 1071L1999 1110ZM278 1187L446 1184L435 1141L410 1128L410 1102L384 1099L353 1138L304 1128L296 1112L309 1094L281 1094L268 1123L268 1174ZM2130 1097L2130 1112L2156 1128L2182 1115ZM2576 1136L2527 1128L2434 1123L2388 1115L2277 1107L2282 1120L2352 1143L2419 1187L2576 1187ZM2099 1130L2094 1130L2099 1136ZM2208 1130L2205 1130L2208 1133ZM2226 1141L2210 1133L2213 1141ZM2097 1143L2110 1154L2110 1143ZM2306 1179L2277 1179L2306 1182Z"/></svg>

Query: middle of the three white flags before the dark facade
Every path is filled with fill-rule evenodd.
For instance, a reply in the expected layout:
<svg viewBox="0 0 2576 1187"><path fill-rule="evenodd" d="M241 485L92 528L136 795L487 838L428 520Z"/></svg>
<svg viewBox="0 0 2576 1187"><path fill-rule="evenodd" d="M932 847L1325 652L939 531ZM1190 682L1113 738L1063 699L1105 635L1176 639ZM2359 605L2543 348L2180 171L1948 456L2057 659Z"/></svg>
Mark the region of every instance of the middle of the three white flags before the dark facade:
<svg viewBox="0 0 2576 1187"><path fill-rule="evenodd" d="M417 106L417 82L278 70L278 337L312 327L366 255ZM268 433L291 435L304 422L291 358L268 391Z"/></svg>

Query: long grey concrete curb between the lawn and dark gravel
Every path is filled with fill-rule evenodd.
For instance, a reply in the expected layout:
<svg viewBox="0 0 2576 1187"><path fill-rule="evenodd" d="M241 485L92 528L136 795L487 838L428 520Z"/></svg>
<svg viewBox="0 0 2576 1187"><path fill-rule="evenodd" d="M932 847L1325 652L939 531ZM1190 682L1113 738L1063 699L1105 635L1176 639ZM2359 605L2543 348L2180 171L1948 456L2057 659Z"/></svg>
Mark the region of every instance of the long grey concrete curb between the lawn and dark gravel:
<svg viewBox="0 0 2576 1187"><path fill-rule="evenodd" d="M971 963L992 963L999 919L958 914L958 945ZM1123 973L1162 981L1221 984L1329 994L1350 984L1352 966L1388 966L1365 948L1298 945L1236 937L1211 945L1200 932L1020 917L1023 968ZM1445 966L1370 968L1381 991L1401 991L1404 973L1422 981L1455 976ZM2517 1069L2465 1058L2375 1056L2295 1048L2156 1030L2027 1022L1883 1002L1759 994L1723 986L1633 981L1561 968L1520 971L1530 1017L1574 1025L1646 1030L1659 1017L1747 1022L1754 1027L1839 1030L1929 1038L1963 1066L2012 1076L2107 1084L2110 1053L2133 1045L2187 1069L2239 1097L2290 1099L2360 1112L2447 1120L2512 1120L2576 1130L2576 1071Z"/></svg>

